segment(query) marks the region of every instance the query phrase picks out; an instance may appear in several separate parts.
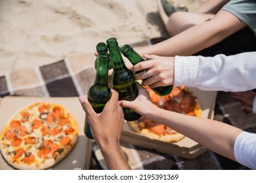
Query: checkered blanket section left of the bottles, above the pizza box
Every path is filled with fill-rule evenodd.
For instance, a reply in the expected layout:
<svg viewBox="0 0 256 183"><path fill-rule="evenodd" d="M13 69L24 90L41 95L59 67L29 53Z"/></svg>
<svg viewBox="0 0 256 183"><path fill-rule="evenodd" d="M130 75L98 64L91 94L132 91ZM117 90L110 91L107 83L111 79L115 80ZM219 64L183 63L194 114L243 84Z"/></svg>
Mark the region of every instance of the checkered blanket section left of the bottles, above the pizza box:
<svg viewBox="0 0 256 183"><path fill-rule="evenodd" d="M93 84L93 53L72 54L49 65L20 69L0 76L0 96L75 97Z"/></svg>

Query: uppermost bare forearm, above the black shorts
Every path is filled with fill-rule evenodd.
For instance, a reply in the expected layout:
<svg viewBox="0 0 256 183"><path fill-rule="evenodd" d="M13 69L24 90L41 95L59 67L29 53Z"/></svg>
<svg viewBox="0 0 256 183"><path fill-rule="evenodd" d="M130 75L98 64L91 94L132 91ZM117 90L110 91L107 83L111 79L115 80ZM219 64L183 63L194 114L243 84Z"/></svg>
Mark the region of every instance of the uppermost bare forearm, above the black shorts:
<svg viewBox="0 0 256 183"><path fill-rule="evenodd" d="M140 54L158 56L189 56L222 41L245 24L230 12L221 10L215 18L140 50Z"/></svg>

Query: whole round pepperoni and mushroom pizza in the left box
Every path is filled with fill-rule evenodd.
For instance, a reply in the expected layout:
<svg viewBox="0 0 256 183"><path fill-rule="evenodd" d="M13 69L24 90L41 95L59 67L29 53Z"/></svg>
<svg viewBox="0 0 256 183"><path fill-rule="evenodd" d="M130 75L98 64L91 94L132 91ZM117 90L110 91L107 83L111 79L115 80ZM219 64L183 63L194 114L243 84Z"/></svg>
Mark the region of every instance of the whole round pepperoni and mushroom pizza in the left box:
<svg viewBox="0 0 256 183"><path fill-rule="evenodd" d="M66 108L37 102L7 122L0 134L0 150L16 169L49 169L69 154L77 135L77 122Z"/></svg>

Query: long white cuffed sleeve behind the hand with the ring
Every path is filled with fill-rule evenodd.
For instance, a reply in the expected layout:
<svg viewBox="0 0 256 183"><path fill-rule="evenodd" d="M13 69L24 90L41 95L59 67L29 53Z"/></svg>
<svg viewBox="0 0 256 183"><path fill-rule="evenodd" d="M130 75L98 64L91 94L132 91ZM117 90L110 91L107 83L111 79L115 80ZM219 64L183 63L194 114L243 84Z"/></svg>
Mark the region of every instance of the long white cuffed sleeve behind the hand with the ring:
<svg viewBox="0 0 256 183"><path fill-rule="evenodd" d="M240 92L256 88L256 52L214 57L175 56L175 86Z"/></svg>

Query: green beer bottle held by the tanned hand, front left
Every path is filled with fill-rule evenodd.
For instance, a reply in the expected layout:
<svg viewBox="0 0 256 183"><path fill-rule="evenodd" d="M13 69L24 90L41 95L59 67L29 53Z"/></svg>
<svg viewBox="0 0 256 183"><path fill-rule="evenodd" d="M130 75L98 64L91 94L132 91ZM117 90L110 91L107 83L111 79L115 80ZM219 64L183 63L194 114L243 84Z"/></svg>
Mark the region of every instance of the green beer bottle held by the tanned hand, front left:
<svg viewBox="0 0 256 183"><path fill-rule="evenodd" d="M96 69L95 83L87 93L88 101L91 103L96 113L102 112L106 103L111 97L111 91L108 87L108 63L110 62L110 56L108 53L100 53L98 57L98 65ZM84 133L89 139L93 139L91 134L91 127L85 118Z"/></svg>

